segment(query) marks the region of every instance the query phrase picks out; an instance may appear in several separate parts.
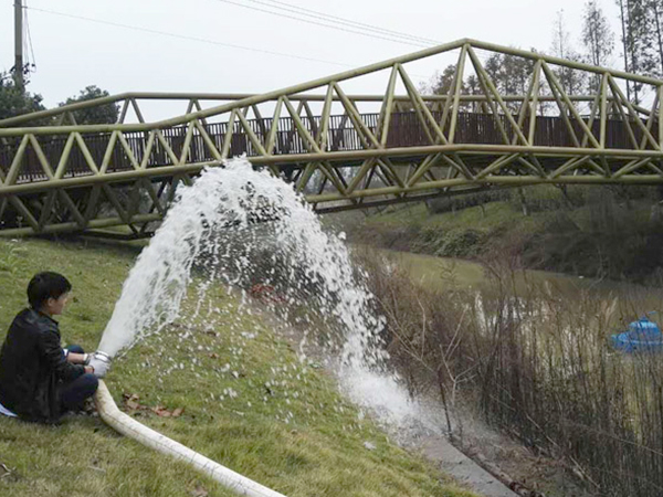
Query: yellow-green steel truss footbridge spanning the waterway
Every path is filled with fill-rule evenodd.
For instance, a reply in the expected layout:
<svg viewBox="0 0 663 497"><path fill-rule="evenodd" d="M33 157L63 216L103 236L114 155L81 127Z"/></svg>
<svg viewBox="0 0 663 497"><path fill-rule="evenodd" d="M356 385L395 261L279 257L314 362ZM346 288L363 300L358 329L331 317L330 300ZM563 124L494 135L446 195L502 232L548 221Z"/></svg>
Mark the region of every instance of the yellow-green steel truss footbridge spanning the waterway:
<svg viewBox="0 0 663 497"><path fill-rule="evenodd" d="M526 87L493 81L482 62L492 53L519 61ZM449 56L449 92L422 94L410 67ZM569 75L596 89L572 94ZM385 93L346 93L364 77L382 77ZM627 82L642 86L646 106L627 98ZM180 103L185 114L149 121L155 101ZM124 225L145 235L179 184L242 154L320 212L491 187L661 184L662 101L660 80L474 40L262 95L98 98L0 120L0 234ZM116 124L76 124L78 113L108 104L122 108Z"/></svg>

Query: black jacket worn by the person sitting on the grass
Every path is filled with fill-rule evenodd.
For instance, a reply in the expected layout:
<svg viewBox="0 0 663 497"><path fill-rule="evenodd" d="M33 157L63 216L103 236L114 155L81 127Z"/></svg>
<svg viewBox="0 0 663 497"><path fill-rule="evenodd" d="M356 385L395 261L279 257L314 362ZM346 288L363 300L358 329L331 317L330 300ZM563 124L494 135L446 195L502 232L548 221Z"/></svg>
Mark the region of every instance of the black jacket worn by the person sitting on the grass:
<svg viewBox="0 0 663 497"><path fill-rule="evenodd" d="M85 372L66 361L57 321L24 309L12 321L0 350L0 403L27 421L59 420L57 384Z"/></svg>

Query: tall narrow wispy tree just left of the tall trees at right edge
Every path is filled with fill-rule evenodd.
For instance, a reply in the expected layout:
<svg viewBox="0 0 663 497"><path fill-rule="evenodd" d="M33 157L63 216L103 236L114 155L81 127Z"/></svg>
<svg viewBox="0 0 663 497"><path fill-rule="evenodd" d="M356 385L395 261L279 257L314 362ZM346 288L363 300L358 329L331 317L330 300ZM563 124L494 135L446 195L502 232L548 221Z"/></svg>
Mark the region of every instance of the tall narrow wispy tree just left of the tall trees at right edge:
<svg viewBox="0 0 663 497"><path fill-rule="evenodd" d="M587 61L592 65L607 66L614 50L614 33L597 0L589 0L585 4L581 40ZM600 77L597 74L589 84L594 93L599 91Z"/></svg>

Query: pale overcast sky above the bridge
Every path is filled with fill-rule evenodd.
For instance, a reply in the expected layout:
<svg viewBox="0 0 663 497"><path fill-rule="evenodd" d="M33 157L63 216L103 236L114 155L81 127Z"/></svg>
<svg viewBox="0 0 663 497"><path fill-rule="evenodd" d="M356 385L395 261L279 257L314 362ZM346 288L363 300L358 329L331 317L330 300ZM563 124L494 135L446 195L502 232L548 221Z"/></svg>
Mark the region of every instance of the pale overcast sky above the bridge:
<svg viewBox="0 0 663 497"><path fill-rule="evenodd" d="M34 53L32 56L28 51L27 55L36 65L29 89L40 93L48 107L87 85L97 85L110 94L264 93L423 47L283 17L298 17L302 8L430 39L431 45L473 38L539 51L549 49L556 13L562 9L571 41L579 49L585 3L581 0L280 1L293 7L283 3L274 7L272 0L24 0ZM614 2L599 3L617 32ZM259 9L277 10L282 17ZM0 6L0 71L9 70L13 61L13 0L4 0ZM418 63L410 70L412 78L427 81L453 62L436 59ZM351 83L346 92L383 93L385 85L381 80L365 78ZM160 114L158 117L183 113L167 107L155 112Z"/></svg>

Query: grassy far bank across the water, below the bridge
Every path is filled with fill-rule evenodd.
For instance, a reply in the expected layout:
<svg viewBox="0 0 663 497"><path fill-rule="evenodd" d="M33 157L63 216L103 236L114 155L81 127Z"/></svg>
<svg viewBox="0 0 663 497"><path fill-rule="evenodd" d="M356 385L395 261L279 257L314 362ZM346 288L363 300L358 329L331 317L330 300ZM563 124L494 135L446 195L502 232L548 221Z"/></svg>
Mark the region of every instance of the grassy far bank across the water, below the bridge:
<svg viewBox="0 0 663 497"><path fill-rule="evenodd" d="M653 187L528 187L393 207L347 230L351 240L399 251L503 253L532 269L651 283L663 267L659 198Z"/></svg>

